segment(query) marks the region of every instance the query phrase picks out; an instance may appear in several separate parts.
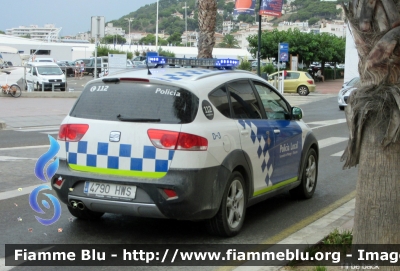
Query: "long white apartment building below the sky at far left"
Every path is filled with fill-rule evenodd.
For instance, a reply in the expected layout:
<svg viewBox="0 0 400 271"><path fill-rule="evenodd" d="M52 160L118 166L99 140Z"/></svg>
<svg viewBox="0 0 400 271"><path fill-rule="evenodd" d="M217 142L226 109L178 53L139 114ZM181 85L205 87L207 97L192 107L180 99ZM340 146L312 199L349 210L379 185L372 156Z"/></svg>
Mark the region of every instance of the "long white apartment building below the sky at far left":
<svg viewBox="0 0 400 271"><path fill-rule="evenodd" d="M30 37L35 40L57 40L59 39L60 28L54 24L45 24L43 27L38 25L19 26L17 28L6 29L6 35L15 37Z"/></svg>

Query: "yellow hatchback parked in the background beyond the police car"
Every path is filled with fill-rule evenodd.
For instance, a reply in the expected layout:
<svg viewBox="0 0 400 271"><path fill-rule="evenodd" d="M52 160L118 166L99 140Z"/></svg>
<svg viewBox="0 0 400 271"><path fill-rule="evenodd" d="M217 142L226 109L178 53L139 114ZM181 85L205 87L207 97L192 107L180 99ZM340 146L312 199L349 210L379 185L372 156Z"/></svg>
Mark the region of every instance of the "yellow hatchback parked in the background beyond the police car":
<svg viewBox="0 0 400 271"><path fill-rule="evenodd" d="M284 92L298 93L301 96L307 96L310 92L315 91L314 79L308 72L303 71L280 71L272 73L268 76L268 81L274 84L278 77L284 74Z"/></svg>

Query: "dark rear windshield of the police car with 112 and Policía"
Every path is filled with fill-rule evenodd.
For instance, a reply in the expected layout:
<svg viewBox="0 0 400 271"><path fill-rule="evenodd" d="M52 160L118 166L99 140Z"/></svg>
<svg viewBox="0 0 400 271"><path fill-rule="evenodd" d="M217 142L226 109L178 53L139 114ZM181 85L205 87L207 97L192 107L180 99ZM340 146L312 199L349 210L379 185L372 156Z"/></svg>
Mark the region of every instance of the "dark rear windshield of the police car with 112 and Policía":
<svg viewBox="0 0 400 271"><path fill-rule="evenodd" d="M71 116L110 121L184 124L194 120L199 99L168 85L138 82L89 83Z"/></svg>

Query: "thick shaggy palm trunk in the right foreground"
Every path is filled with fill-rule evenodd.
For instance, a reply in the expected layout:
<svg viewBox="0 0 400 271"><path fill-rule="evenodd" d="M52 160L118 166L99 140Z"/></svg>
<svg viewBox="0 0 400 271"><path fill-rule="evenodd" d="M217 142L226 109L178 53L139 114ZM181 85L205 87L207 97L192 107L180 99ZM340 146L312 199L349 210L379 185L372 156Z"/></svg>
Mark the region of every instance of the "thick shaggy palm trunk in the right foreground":
<svg viewBox="0 0 400 271"><path fill-rule="evenodd" d="M360 58L361 86L346 109L350 139L342 156L344 168L359 165L356 244L400 244L399 8L397 0L344 6Z"/></svg>

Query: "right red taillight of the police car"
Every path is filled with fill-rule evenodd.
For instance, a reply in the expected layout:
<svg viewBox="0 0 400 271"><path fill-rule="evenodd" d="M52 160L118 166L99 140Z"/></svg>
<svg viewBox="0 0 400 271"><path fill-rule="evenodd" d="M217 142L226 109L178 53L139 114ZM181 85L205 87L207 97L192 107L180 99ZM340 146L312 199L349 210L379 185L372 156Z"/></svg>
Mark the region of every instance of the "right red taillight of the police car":
<svg viewBox="0 0 400 271"><path fill-rule="evenodd" d="M147 134L159 149L206 151L208 147L208 140L197 135L154 129L148 130Z"/></svg>

